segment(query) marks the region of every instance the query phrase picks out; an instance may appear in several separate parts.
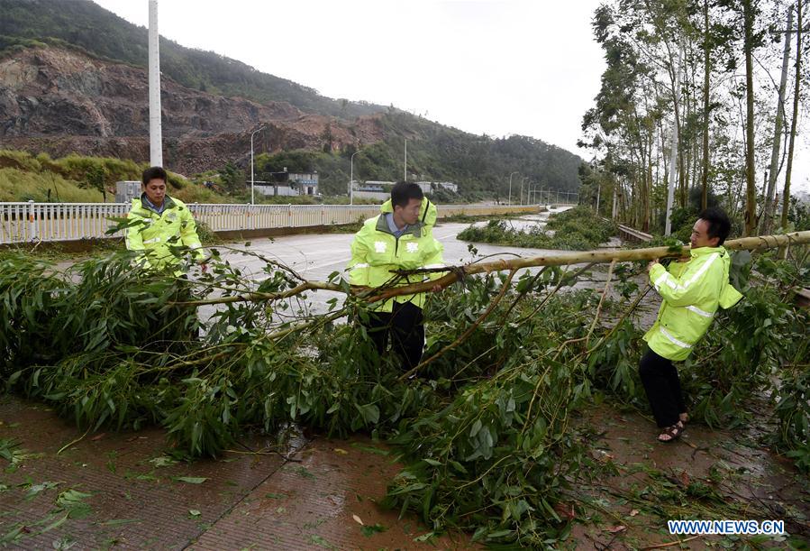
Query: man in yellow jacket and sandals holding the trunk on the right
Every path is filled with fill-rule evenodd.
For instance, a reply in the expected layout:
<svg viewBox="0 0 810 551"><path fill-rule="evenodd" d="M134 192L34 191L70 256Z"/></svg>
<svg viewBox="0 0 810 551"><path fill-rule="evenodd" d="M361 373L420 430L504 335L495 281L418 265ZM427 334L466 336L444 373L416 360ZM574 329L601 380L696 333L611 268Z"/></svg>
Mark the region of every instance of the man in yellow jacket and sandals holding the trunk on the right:
<svg viewBox="0 0 810 551"><path fill-rule="evenodd" d="M650 262L650 283L659 292L661 307L644 335L650 346L639 364L639 375L650 400L658 439L671 442L688 420L678 370L672 362L685 360L712 325L719 308L731 308L742 298L728 281L731 259L723 243L731 230L728 216L707 208L698 217L690 238L690 258L671 262L669 270Z"/></svg>

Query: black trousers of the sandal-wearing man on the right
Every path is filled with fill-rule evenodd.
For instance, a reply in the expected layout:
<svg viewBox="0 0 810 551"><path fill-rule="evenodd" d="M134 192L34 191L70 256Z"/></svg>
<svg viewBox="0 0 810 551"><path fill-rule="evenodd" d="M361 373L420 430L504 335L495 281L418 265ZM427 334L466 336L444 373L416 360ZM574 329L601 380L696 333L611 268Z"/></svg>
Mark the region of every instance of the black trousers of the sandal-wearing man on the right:
<svg viewBox="0 0 810 551"><path fill-rule="evenodd" d="M678 370L672 362L648 350L639 363L639 375L658 426L671 427L678 423L678 414L686 412L687 407L680 390Z"/></svg>

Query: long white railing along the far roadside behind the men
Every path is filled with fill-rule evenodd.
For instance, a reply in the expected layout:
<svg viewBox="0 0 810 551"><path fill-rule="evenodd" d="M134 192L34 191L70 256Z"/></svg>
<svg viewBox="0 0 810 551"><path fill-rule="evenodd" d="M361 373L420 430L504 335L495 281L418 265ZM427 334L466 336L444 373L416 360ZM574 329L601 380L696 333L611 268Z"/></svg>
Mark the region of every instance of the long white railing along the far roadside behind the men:
<svg viewBox="0 0 810 551"><path fill-rule="evenodd" d="M214 232L350 224L379 213L378 205L195 203L188 207L198 222ZM516 205L441 205L439 214L496 215L526 209ZM113 218L123 218L129 210L127 203L0 203L0 244L110 237L106 232L116 225Z"/></svg>

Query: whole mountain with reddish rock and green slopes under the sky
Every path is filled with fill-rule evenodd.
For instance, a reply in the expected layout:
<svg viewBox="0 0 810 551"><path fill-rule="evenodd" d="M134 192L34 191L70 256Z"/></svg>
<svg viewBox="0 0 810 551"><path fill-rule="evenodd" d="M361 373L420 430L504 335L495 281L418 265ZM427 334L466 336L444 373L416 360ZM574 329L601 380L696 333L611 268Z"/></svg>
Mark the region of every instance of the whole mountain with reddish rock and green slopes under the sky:
<svg viewBox="0 0 810 551"><path fill-rule="evenodd" d="M64 10L70 17L54 14L55 5L71 6ZM0 22L2 147L33 154L46 152L51 157L77 152L148 161L146 67L115 59L116 55L132 58L142 54L145 60L146 30L88 1L0 0L0 9L6 10ZM87 12L91 16L83 19ZM50 29L48 25L55 22L65 25ZM94 24L99 32L86 32ZM133 32L143 34L143 48L136 41L128 55L120 54ZM87 36L95 37L95 41ZM164 163L172 170L190 175L222 170L228 163L246 170L250 133L264 124L267 132L255 134L256 154L268 153L268 164L275 166L278 163L274 159L288 159L287 152L310 152L298 159L305 160L308 170L319 170L322 188L328 193L345 193L350 156L359 149L364 154L355 161L355 177L399 178L403 173L405 140L409 178L456 181L470 199L505 197L505 175L514 170L532 179L535 187L578 188L582 160L542 140L478 136L393 106L374 106L383 110L350 116L351 109L371 109L371 105L346 100L336 106L335 100L314 95L312 88L268 75L264 77L285 83L282 87L287 91L303 91L304 95L277 96L278 90L273 87L262 90L262 100L257 100L256 94L224 94L221 90L232 82L227 79L214 80L215 86L210 82L205 85L204 79L197 81L202 86L188 87L183 79L194 80L200 74L180 70L196 67L194 62L182 59L184 52L214 61L227 60L236 70L233 74L247 66L218 54L179 46L164 49L162 40ZM106 50L95 47L108 42L117 46ZM250 69L245 77L247 92L259 82L248 78L256 74L258 71ZM209 75L218 73L209 71ZM316 107L323 107L323 111ZM283 162L281 166L285 166ZM514 196L519 188L516 180Z"/></svg>

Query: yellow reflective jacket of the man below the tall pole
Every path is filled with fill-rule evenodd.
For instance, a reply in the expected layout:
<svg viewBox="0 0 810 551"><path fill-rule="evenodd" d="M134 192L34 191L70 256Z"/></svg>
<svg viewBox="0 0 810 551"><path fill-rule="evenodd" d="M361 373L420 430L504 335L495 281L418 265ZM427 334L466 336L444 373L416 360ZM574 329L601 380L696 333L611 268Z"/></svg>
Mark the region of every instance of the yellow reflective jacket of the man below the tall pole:
<svg viewBox="0 0 810 551"><path fill-rule="evenodd" d="M180 259L171 253L171 247L187 246L194 249L197 261L205 254L196 233L194 216L182 201L164 197L163 212L158 214L148 207L141 197L132 199L132 207L127 215L130 226L126 230L126 248L142 251L139 262L147 268L160 270L169 264L177 264Z"/></svg>

